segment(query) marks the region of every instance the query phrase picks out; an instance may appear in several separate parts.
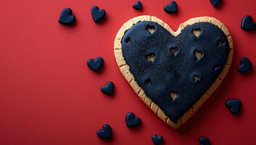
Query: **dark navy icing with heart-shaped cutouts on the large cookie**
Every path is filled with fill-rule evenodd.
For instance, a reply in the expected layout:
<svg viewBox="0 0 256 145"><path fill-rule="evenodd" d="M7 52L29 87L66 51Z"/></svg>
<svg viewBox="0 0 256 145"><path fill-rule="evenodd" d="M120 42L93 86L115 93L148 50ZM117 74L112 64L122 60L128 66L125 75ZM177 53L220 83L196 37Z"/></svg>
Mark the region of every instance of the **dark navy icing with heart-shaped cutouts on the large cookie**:
<svg viewBox="0 0 256 145"><path fill-rule="evenodd" d="M194 29L201 30L198 37L192 33ZM156 22L138 22L125 31L121 43L136 82L174 123L218 78L230 51L226 35L210 22L189 25L178 36ZM172 47L178 47L174 54L170 53ZM201 58L195 57L195 50L202 52ZM153 62L146 59L152 54ZM170 92L178 97L172 99Z"/></svg>

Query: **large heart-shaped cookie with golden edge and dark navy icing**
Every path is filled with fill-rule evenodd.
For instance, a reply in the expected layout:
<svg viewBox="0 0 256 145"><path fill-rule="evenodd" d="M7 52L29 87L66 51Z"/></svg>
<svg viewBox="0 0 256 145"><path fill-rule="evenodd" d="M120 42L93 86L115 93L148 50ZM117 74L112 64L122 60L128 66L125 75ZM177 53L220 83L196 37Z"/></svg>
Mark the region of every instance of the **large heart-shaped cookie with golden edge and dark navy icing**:
<svg viewBox="0 0 256 145"><path fill-rule="evenodd" d="M226 26L213 17L192 18L175 32L157 17L139 16L120 28L114 51L141 100L179 128L226 77L234 48Z"/></svg>

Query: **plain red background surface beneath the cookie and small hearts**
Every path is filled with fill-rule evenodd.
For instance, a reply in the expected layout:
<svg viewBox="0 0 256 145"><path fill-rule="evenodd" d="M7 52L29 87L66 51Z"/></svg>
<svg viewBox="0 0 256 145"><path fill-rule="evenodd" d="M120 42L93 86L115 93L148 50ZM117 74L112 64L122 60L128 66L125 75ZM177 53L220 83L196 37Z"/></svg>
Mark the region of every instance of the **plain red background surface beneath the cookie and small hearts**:
<svg viewBox="0 0 256 145"><path fill-rule="evenodd" d="M141 0L143 11L131 0L1 0L0 1L0 144L152 144L152 133L165 144L196 145L199 136L212 144L256 144L255 72L237 71L240 57L256 64L256 33L241 30L241 18L256 20L256 1L224 0L215 9L208 0L177 0L178 14L163 11L168 0ZM101 24L91 18L91 6L107 11ZM73 27L57 20L64 7L77 18ZM151 14L173 30L191 17L212 16L222 21L234 38L234 63L225 82L188 123L173 130L136 96L121 75L113 53L115 35L123 22ZM102 56L100 73L86 66L89 58ZM108 80L115 96L99 90ZM225 101L242 101L240 115L231 115ZM125 126L129 111L141 117L136 129ZM112 141L102 141L96 130L109 123Z"/></svg>

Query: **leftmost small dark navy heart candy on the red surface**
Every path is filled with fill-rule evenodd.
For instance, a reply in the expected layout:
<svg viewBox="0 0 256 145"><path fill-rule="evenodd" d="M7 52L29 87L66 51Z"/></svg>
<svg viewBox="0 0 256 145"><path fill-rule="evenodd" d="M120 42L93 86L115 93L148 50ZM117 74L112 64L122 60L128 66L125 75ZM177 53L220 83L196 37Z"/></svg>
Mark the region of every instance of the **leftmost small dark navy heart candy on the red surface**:
<svg viewBox="0 0 256 145"><path fill-rule="evenodd" d="M70 25L75 22L75 15L72 14L72 9L69 7L62 10L59 15L59 23L64 25Z"/></svg>

